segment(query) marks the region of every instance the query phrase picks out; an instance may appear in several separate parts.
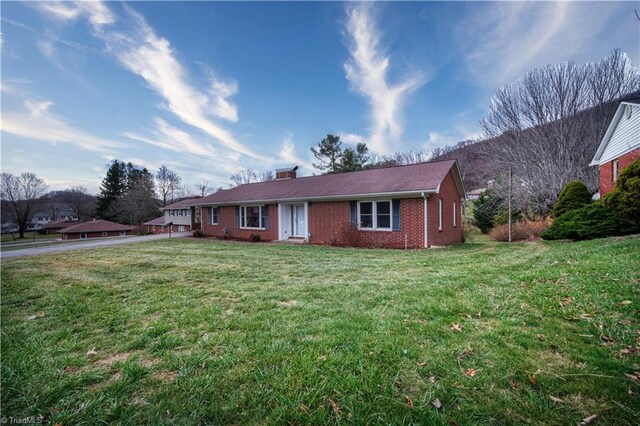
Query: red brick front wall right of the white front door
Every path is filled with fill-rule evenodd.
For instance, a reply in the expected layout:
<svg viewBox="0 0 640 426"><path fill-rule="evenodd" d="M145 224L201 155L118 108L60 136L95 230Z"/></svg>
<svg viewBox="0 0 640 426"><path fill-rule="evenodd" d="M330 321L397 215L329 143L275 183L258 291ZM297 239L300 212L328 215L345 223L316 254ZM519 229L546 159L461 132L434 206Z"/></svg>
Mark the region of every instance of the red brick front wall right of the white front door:
<svg viewBox="0 0 640 426"><path fill-rule="evenodd" d="M424 247L422 198L400 200L400 230L368 231L353 229L349 201L312 202L309 204L309 232L312 244L352 245L363 247L404 248L407 234L409 248Z"/></svg>

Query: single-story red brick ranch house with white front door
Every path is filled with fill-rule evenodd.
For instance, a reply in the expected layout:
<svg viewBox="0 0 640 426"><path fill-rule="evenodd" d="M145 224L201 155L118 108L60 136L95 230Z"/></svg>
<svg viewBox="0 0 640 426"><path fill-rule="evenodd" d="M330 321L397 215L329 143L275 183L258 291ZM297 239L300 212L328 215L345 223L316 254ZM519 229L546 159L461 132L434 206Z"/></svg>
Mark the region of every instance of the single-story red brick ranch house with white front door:
<svg viewBox="0 0 640 426"><path fill-rule="evenodd" d="M393 248L462 242L464 188L455 160L277 176L192 201L194 211L202 210L204 234Z"/></svg>

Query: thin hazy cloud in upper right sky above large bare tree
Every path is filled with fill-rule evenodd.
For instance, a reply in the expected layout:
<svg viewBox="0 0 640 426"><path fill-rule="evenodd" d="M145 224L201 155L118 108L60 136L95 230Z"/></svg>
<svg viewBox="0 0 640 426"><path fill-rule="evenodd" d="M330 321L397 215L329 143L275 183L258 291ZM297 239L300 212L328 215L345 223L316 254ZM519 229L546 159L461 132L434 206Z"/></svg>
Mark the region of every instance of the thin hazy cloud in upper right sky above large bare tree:
<svg viewBox="0 0 640 426"><path fill-rule="evenodd" d="M480 85L515 81L532 68L566 60L599 59L629 40L611 35L623 3L498 2L478 3L453 32L464 53L466 70ZM628 8L628 7L627 7ZM629 18L634 18L632 8ZM619 21L619 20L617 20ZM624 26L633 50L640 36L637 22ZM622 45L620 45L622 44ZM637 52L630 52L632 55Z"/></svg>

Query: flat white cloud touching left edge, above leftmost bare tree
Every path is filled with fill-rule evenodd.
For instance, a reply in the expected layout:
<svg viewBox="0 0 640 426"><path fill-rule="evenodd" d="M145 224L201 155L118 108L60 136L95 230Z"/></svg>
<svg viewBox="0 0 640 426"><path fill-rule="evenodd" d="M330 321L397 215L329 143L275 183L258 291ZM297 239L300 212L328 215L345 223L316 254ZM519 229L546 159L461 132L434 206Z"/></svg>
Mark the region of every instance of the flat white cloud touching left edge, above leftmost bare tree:
<svg viewBox="0 0 640 426"><path fill-rule="evenodd" d="M53 114L51 101L24 101L26 111L3 111L2 131L47 143L67 143L88 151L109 152L122 147L119 142L101 138L66 123Z"/></svg>

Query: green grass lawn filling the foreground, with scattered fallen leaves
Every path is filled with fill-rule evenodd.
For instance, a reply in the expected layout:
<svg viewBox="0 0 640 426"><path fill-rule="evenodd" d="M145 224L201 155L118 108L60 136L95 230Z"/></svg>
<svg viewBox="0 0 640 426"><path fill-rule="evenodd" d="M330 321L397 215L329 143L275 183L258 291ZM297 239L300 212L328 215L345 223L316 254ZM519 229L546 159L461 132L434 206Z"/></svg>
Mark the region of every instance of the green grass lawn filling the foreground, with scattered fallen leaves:
<svg viewBox="0 0 640 426"><path fill-rule="evenodd" d="M640 238L409 252L173 239L5 260L2 411L637 424L639 265Z"/></svg>

